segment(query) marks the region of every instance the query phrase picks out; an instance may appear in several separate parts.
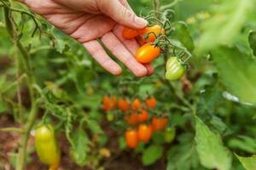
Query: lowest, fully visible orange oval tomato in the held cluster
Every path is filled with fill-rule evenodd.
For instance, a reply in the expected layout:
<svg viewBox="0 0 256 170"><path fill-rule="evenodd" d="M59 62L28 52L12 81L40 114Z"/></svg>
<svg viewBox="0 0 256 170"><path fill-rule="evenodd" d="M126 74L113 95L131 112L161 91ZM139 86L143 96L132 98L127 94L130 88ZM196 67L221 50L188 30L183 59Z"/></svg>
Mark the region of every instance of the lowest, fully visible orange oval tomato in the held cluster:
<svg viewBox="0 0 256 170"><path fill-rule="evenodd" d="M150 63L160 55L160 48L154 46L153 43L145 43L137 49L136 59L138 62L146 64Z"/></svg>

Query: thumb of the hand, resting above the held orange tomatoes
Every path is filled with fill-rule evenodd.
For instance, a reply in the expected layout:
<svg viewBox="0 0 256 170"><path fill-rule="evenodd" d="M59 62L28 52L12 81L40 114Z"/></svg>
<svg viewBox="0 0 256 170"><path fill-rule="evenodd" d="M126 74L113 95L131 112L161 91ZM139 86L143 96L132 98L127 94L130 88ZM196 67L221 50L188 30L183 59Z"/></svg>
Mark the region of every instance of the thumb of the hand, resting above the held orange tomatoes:
<svg viewBox="0 0 256 170"><path fill-rule="evenodd" d="M108 15L122 26L127 26L134 29L142 29L148 25L147 20L138 17L131 9L126 8L117 0L104 0L101 2L106 2L102 4L102 13Z"/></svg>

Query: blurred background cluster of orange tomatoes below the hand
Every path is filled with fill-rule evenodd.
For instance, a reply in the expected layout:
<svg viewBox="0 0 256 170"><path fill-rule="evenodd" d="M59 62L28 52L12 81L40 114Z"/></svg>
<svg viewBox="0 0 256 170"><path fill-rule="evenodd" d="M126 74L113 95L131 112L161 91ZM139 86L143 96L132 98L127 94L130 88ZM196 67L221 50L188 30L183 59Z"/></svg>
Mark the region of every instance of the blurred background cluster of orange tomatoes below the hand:
<svg viewBox="0 0 256 170"><path fill-rule="evenodd" d="M143 103L139 99L130 102L128 99L117 99L115 96L103 97L104 111L119 109L125 113L125 123L128 125L125 130L125 142L131 149L136 148L140 141L147 143L154 132L166 130L166 116L152 116L150 119L148 114L148 111L154 110L156 104L154 96L148 97Z"/></svg>

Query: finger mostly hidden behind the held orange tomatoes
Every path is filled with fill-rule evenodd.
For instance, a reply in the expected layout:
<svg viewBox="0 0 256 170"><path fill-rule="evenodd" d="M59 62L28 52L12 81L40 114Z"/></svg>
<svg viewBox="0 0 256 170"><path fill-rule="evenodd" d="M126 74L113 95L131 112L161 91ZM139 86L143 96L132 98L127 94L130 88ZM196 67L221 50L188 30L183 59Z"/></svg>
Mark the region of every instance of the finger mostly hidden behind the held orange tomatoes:
<svg viewBox="0 0 256 170"><path fill-rule="evenodd" d="M127 40L123 37L122 31L123 31L123 26L115 26L113 28L113 34L119 38L119 41L122 42L125 47L133 54L136 56L137 49L140 48L140 45L137 43L135 39ZM147 64L145 67L148 70L147 76L151 76L154 73L154 67L153 65Z"/></svg>

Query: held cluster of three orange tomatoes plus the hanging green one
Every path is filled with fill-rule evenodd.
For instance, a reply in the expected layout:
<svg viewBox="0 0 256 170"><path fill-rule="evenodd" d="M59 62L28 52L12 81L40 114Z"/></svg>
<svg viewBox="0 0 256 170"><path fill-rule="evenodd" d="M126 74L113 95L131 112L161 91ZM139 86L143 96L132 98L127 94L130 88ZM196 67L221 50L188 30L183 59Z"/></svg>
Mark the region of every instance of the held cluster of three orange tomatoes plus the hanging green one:
<svg viewBox="0 0 256 170"><path fill-rule="evenodd" d="M143 30L133 30L125 27L123 30L123 37L125 39L136 38L142 47L137 49L137 61L143 64L150 63L156 59L161 52L160 42L165 37L165 28L156 24L147 26ZM166 63L166 79L177 80L183 77L186 71L185 66L177 57L172 56Z"/></svg>

